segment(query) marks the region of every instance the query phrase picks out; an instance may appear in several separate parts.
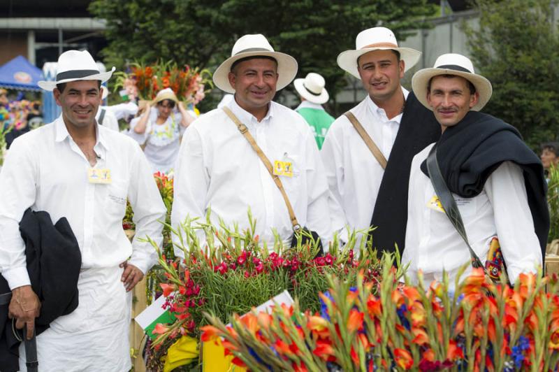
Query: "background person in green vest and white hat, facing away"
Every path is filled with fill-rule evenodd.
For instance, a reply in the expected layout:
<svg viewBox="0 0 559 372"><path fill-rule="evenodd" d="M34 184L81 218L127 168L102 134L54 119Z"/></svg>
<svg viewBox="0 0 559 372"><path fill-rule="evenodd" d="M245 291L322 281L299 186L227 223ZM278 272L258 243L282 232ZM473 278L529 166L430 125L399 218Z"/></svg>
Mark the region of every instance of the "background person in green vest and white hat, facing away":
<svg viewBox="0 0 559 372"><path fill-rule="evenodd" d="M295 79L293 85L301 100L295 110L309 123L320 150L326 132L334 122L334 118L322 107L330 98L324 87L326 82L318 73L310 72L304 79Z"/></svg>

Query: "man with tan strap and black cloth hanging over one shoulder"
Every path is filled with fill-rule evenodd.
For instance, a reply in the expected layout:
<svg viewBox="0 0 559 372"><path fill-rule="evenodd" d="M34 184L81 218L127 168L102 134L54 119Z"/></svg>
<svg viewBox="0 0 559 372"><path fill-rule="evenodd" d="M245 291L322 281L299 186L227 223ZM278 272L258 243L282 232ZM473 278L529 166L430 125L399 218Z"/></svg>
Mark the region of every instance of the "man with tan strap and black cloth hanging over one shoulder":
<svg viewBox="0 0 559 372"><path fill-rule="evenodd" d="M398 47L390 29L373 27L357 35L355 50L337 57L368 95L335 120L321 150L333 195L333 228L343 234L346 225L377 227L372 246L379 252L393 252L395 245L403 249L409 166L440 136L433 115L400 85L420 55Z"/></svg>

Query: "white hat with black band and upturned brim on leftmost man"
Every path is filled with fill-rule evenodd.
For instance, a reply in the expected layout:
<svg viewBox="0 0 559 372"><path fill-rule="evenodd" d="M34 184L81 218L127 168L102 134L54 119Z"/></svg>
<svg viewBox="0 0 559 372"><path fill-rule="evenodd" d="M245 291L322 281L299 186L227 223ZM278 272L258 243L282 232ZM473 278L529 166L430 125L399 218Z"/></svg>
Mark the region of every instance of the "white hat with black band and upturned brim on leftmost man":
<svg viewBox="0 0 559 372"><path fill-rule="evenodd" d="M76 80L101 80L101 83L105 83L110 79L113 71L115 71L115 66L107 72L99 71L99 66L87 50L68 50L58 57L55 81L41 80L37 82L37 85L52 92L57 84L70 83Z"/></svg>

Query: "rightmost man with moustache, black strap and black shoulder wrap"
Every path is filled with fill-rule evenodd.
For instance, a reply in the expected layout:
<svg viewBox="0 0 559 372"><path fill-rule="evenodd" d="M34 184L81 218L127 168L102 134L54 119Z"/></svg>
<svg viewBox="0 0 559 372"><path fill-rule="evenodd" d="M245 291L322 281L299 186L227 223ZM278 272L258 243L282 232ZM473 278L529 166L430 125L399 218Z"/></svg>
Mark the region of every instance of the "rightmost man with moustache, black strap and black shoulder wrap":
<svg viewBox="0 0 559 372"><path fill-rule="evenodd" d="M441 280L444 270L452 282L472 259L472 265L479 262L498 278L495 255L488 255L498 245L497 258L504 259L512 282L520 273L535 271L542 265L549 230L542 163L514 127L479 113L491 98L491 83L474 72L467 57L446 54L432 69L418 71L412 88L433 110L442 136L412 162L402 255L409 275L415 280L421 270L430 282ZM454 221L461 216L465 238L445 210Z"/></svg>

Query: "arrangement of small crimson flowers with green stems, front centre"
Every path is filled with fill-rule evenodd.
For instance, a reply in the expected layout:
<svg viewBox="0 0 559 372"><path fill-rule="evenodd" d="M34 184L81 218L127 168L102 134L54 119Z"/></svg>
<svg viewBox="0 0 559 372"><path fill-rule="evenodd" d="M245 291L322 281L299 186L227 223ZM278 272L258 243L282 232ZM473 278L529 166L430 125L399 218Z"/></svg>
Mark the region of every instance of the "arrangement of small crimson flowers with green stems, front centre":
<svg viewBox="0 0 559 372"><path fill-rule="evenodd" d="M362 271L362 280L378 284L376 253L364 250L356 259L352 250L355 234L344 250L333 248L324 257L315 257L314 245L288 248L279 240L270 252L254 236L250 213L249 220L251 228L242 232L223 224L218 229L209 222L187 220L174 231L185 258L170 260L159 250L164 271L160 287L167 299L164 307L176 320L154 329L158 336L152 343L148 368L161 368L161 356L182 336L198 338L200 327L208 324L204 313L212 312L226 321L231 314L246 313L285 289L302 308L316 311L320 308L317 294L328 288L328 275L355 285L356 274ZM205 233L207 246L199 243L199 230Z"/></svg>

